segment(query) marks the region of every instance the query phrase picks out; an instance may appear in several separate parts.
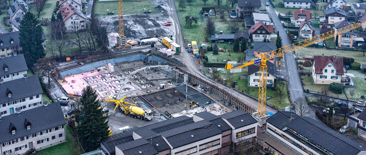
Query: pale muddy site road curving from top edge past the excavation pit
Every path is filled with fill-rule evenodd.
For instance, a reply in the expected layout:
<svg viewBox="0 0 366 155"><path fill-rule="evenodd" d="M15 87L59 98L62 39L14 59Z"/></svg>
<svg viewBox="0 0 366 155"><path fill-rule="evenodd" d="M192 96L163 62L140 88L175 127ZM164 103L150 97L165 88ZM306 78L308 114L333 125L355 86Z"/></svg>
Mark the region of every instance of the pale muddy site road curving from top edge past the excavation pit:
<svg viewBox="0 0 366 155"><path fill-rule="evenodd" d="M172 19L174 21L174 26L175 26L175 30L176 30L176 43L178 45L183 45L185 46L184 43L184 38L183 38L183 34L182 34L182 28L180 27L180 20L178 18L178 12L176 12L176 8L175 8L175 3L174 0L168 0L168 6L171 8L171 16ZM182 46L182 47L183 47ZM185 50L185 48L182 48L183 50ZM232 90L231 88L224 86L221 83L215 82L214 80L206 77L200 70L198 69L196 63L197 60L194 60L193 57L191 56L190 53L188 53L187 51L184 51L183 53L179 54L178 56L175 56L176 58L182 60L184 62L185 65L187 65L187 67L189 68L191 73L196 74L198 77L201 76L200 78L203 80L206 80L212 84L216 84L217 86L224 88L224 90L226 90L227 92L231 93L232 95L238 97L238 99L243 100L246 105L248 106L252 106L253 109L258 109L258 100L254 100L246 95L243 95L235 90ZM271 107L266 107L266 113L276 113L277 111Z"/></svg>

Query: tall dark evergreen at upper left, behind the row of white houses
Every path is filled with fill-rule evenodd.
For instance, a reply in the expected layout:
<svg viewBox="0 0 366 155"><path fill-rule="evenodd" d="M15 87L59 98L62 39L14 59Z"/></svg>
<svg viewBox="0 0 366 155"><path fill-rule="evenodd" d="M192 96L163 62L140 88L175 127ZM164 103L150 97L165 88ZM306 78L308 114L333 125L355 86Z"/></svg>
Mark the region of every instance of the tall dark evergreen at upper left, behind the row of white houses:
<svg viewBox="0 0 366 155"><path fill-rule="evenodd" d="M19 26L19 45L25 54L28 65L36 63L38 59L46 54L42 46L42 27L30 11L26 12Z"/></svg>

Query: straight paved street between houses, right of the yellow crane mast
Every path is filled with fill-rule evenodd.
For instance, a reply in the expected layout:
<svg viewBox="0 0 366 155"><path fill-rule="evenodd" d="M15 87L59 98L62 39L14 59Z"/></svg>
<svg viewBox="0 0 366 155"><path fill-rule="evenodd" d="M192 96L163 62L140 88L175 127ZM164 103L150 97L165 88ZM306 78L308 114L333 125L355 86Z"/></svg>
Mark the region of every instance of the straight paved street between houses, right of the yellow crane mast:
<svg viewBox="0 0 366 155"><path fill-rule="evenodd" d="M268 0L261 0L263 5L266 7L266 10L268 11L268 14L270 18L272 18L273 21L273 27L280 33L280 36L282 38L282 46L291 45L290 39L288 39L287 31L282 26L281 20L278 18L278 14L276 14L275 9L272 7L272 5L265 5L266 2L269 3ZM296 65L295 60L295 53L286 53L284 54L284 65L285 65L285 72L286 75L283 75L286 80L288 80L288 88L290 90L290 97L292 99L292 102L298 97L301 97L304 95L300 76L298 73L298 66ZM281 61L282 63L283 61ZM282 64L281 64L282 65ZM308 115L309 116L309 115ZM311 113L309 116L315 120L315 113Z"/></svg>

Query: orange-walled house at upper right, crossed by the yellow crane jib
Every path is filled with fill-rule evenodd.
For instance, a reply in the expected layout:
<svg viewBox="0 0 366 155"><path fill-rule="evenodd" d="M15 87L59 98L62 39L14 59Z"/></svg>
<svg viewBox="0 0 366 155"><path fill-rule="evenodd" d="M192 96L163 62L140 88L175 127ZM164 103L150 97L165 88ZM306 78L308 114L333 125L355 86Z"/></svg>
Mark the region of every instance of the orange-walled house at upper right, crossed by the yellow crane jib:
<svg viewBox="0 0 366 155"><path fill-rule="evenodd" d="M342 34L337 34L337 30L342 29L343 27L350 26L351 23L347 22L346 20L342 20L339 22L334 23L334 41L337 42L339 47L349 47L352 48L353 46L353 38L357 37L357 34L354 33L353 30L347 31Z"/></svg>

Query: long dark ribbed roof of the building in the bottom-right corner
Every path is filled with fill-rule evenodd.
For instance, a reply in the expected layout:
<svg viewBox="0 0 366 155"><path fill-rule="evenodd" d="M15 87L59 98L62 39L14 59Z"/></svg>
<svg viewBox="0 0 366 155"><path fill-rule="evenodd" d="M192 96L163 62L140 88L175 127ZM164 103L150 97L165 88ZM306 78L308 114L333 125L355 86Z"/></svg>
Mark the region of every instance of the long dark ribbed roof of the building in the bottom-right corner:
<svg viewBox="0 0 366 155"><path fill-rule="evenodd" d="M357 155L366 150L355 141L310 117L298 116L287 126L335 155Z"/></svg>

